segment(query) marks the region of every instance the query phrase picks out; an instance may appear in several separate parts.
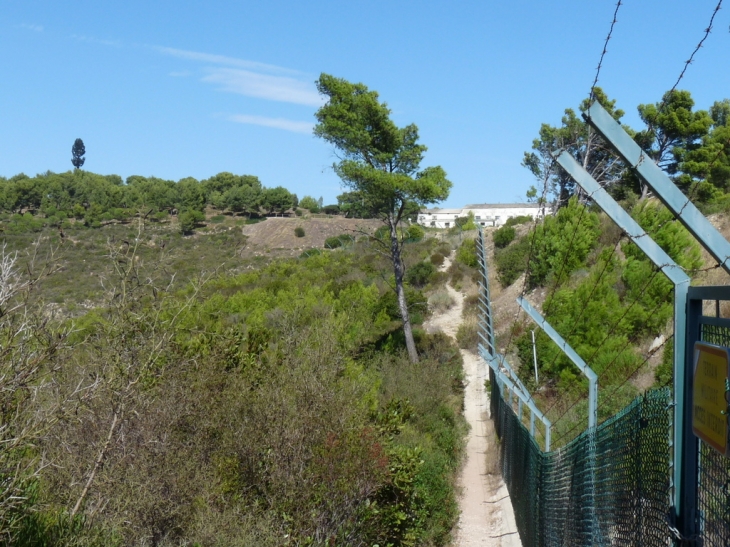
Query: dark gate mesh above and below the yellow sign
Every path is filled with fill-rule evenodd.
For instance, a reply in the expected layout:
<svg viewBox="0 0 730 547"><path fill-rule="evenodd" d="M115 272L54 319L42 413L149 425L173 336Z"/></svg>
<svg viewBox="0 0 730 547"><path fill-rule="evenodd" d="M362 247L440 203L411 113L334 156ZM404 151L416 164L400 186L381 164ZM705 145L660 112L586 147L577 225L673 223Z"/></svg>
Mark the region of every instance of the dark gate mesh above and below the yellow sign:
<svg viewBox="0 0 730 547"><path fill-rule="evenodd" d="M730 328L701 325L703 342L730 346ZM697 511L702 545L726 547L730 545L730 459L699 441L699 483Z"/></svg>

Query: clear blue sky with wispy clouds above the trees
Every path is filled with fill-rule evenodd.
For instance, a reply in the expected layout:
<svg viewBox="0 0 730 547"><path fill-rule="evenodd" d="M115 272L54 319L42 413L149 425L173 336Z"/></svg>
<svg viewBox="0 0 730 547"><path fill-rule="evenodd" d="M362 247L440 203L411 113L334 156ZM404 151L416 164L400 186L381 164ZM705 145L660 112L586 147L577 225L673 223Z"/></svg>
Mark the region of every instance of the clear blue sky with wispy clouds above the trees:
<svg viewBox="0 0 730 547"><path fill-rule="evenodd" d="M599 85L638 127L717 0L624 0ZM335 202L314 138L321 72L377 90L454 184L445 206L523 201L540 124L589 92L615 1L0 3L0 175L85 169L198 179L257 175ZM730 6L680 89L730 98Z"/></svg>

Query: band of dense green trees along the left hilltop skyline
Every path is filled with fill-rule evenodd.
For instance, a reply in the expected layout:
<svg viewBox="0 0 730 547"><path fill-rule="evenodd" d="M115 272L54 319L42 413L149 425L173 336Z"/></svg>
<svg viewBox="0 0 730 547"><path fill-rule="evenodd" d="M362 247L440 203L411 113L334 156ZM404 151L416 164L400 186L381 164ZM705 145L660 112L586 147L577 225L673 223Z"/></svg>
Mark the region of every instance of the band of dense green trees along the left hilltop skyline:
<svg viewBox="0 0 730 547"><path fill-rule="evenodd" d="M181 222L204 218L206 207L247 216L293 211L345 214L368 218L369 211L357 203L357 196L344 193L338 203L323 205L322 198L304 196L302 203L282 186L267 188L253 175L218 173L208 179L186 177L175 182L157 177L99 175L75 169L65 173L47 171L29 177L20 173L0 177L0 220L12 231L40 230L78 222L97 228L105 222L126 222L143 215L163 220L179 215Z"/></svg>

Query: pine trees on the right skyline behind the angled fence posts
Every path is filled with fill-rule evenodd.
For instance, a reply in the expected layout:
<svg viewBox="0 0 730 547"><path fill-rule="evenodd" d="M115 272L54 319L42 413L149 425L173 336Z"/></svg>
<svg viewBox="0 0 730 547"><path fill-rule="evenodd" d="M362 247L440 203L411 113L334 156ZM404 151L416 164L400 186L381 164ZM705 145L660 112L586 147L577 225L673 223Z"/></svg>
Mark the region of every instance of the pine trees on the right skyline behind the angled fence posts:
<svg viewBox="0 0 730 547"><path fill-rule="evenodd" d="M625 112L616 108L602 89L595 99L621 122ZM530 188L530 200L552 202L564 207L571 196L580 195L568 173L553 161L552 154L570 152L618 200L646 199L649 189L616 156L600 135L581 117L591 105L583 101L576 112L565 110L560 126L542 124L532 149L522 165L537 184ZM662 100L637 107L644 129L623 125L675 184L706 211L730 207L730 99L715 101L707 110L695 109L689 91L668 91Z"/></svg>

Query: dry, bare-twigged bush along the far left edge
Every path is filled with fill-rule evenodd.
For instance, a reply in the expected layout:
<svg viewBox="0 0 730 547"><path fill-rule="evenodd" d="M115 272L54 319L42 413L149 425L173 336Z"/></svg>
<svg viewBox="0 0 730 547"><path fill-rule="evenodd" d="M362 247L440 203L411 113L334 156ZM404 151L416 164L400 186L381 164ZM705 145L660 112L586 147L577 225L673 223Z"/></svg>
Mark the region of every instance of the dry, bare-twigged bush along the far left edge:
<svg viewBox="0 0 730 547"><path fill-rule="evenodd" d="M0 542L15 535L33 509L33 490L45 457L39 439L63 411L54 375L65 366L67 332L54 327L31 296L53 271L36 242L24 264L0 248ZM39 266L40 264L45 264Z"/></svg>

